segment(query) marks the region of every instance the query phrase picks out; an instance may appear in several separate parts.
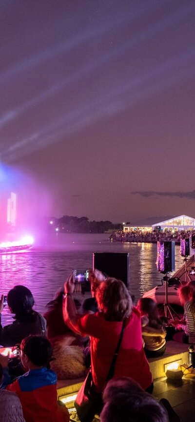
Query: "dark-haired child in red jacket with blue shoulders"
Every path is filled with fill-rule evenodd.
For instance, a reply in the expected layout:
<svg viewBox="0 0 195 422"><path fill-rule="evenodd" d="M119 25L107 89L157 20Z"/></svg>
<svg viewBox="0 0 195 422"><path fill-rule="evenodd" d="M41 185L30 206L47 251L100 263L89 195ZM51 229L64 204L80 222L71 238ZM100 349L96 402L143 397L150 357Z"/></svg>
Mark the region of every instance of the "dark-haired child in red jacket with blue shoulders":
<svg viewBox="0 0 195 422"><path fill-rule="evenodd" d="M26 422L69 422L67 408L58 405L56 373L48 369L52 353L46 337L30 335L21 342L20 359L28 372L6 389L17 393ZM0 362L7 367L8 358L0 355Z"/></svg>

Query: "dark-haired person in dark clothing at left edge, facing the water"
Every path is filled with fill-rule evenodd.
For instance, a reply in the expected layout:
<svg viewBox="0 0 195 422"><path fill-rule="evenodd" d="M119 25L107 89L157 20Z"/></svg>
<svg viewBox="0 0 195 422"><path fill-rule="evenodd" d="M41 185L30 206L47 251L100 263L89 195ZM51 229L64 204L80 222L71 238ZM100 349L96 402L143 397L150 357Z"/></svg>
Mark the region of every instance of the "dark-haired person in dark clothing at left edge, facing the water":
<svg viewBox="0 0 195 422"><path fill-rule="evenodd" d="M2 327L0 324L0 345L14 346L30 335L46 335L46 321L39 312L33 309L34 298L25 286L15 286L7 295L7 304L11 313L15 314L12 324ZM3 295L0 299L0 322L3 310Z"/></svg>

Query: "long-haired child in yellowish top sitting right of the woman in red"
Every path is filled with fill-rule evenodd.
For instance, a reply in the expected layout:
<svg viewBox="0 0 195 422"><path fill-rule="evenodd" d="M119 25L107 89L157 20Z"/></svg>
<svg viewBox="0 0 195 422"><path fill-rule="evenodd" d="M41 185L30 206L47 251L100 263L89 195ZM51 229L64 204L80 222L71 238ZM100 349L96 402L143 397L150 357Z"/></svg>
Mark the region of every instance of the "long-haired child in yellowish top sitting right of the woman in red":
<svg viewBox="0 0 195 422"><path fill-rule="evenodd" d="M161 356L166 349L166 331L158 314L156 302L144 297L138 300L137 309L141 314L144 350L148 358Z"/></svg>

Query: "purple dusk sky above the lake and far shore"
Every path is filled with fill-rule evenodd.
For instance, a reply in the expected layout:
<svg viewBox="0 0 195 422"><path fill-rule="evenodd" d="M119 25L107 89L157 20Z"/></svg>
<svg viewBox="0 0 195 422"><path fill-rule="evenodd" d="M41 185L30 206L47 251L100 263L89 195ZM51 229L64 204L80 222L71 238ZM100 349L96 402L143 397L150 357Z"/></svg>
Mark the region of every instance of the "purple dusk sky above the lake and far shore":
<svg viewBox="0 0 195 422"><path fill-rule="evenodd" d="M48 215L195 217L194 149L194 0L0 0L0 168Z"/></svg>

